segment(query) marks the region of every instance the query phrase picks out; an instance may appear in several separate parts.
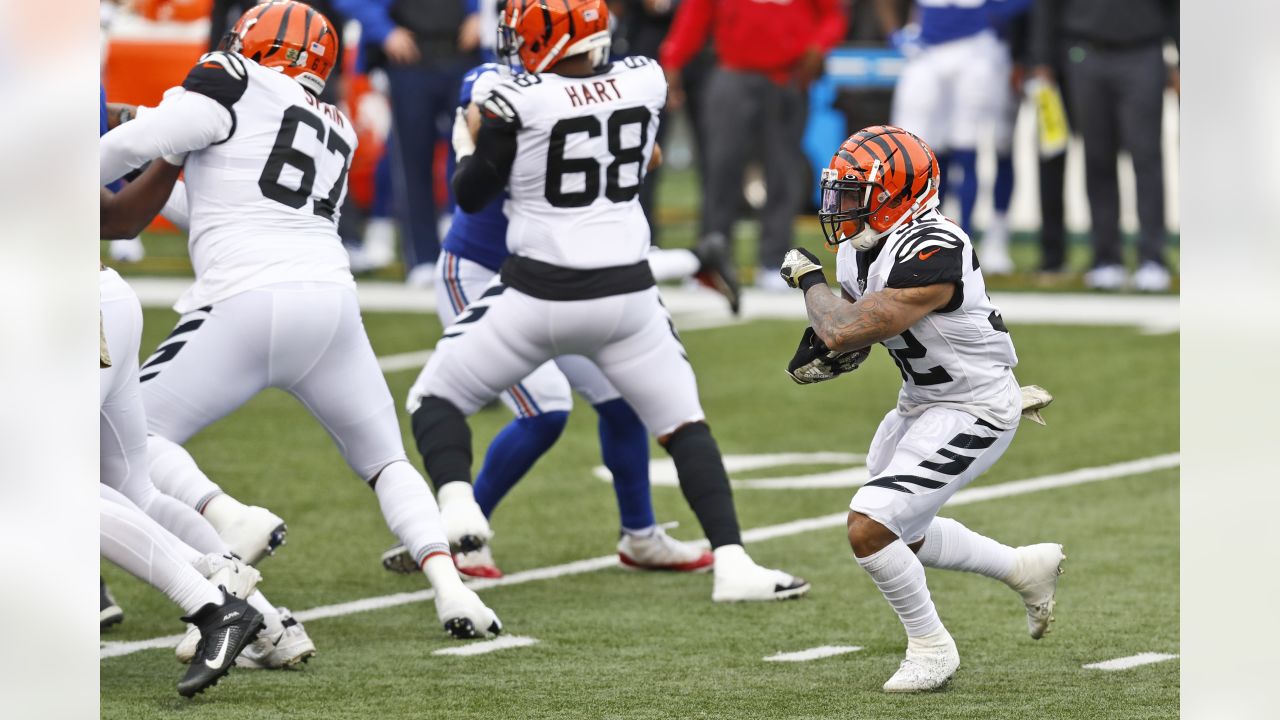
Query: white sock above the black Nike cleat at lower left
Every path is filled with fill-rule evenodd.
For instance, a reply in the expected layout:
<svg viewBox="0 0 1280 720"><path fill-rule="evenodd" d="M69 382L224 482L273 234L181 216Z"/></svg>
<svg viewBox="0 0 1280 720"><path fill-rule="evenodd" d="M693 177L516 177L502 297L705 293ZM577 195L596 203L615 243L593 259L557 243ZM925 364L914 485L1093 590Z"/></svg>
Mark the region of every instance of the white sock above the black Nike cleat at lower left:
<svg viewBox="0 0 1280 720"><path fill-rule="evenodd" d="M223 601L223 593L169 546L164 529L137 506L105 496L99 505L104 557L163 592L187 615Z"/></svg>

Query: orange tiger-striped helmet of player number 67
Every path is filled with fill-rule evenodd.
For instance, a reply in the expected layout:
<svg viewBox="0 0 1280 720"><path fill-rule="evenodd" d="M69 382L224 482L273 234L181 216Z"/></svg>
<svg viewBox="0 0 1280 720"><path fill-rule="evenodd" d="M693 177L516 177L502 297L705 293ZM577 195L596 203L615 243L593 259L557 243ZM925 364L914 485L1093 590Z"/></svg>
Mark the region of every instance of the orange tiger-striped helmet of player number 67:
<svg viewBox="0 0 1280 720"><path fill-rule="evenodd" d="M338 33L306 3L262 3L244 10L219 49L279 70L320 95L338 58Z"/></svg>

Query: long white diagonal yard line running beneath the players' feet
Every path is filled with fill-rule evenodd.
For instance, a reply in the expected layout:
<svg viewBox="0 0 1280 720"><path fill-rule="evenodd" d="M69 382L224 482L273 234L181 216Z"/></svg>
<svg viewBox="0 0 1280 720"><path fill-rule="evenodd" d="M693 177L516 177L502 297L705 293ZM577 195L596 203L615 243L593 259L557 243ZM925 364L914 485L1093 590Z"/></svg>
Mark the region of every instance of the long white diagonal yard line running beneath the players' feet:
<svg viewBox="0 0 1280 720"><path fill-rule="evenodd" d="M1171 452L1169 455L1156 455L1153 457L1129 460L1126 462L1116 462L1114 465L1082 468L1079 470L1059 473L1055 475L1043 475L1039 478L1029 478L1025 480L1000 483L997 486L963 489L951 497L951 500L947 502L947 506L951 507L955 505L969 505L972 502L982 502L986 500L996 500L1000 497L1012 497L1016 495L1027 495L1044 489L1079 486L1098 480L1111 480L1115 478L1123 478L1128 475L1139 475L1155 470L1176 468L1178 465L1179 465L1179 454ZM847 512L835 512L832 515L820 515L818 518L806 518L804 520L792 520L790 523L781 523L777 525L753 528L750 530L742 532L742 539L746 542L762 542L767 539L806 533L810 530L844 527L847 518L849 518ZM701 539L691 544L708 547L710 543L708 543L707 539ZM600 557L576 560L573 562L566 562L563 565L552 565L548 568L535 568L532 570L522 570L520 573L512 573L511 575L506 575L497 579L471 580L467 583L467 585L474 591L483 591L488 588L497 588L504 585L518 585L534 580L550 580L556 578L563 578L566 575L581 575L584 573L594 573L595 570L603 570L604 568L617 566L617 564L618 564L617 555L603 555ZM366 612L370 610L383 610L387 607L396 607L398 605L407 605L411 602L422 602L426 600L431 600L434 597L435 597L435 591L433 589L424 589L417 592L402 592L380 597L366 597L364 600L355 600L351 602L342 602L338 605L324 605L320 607L312 607L311 610L302 610L294 612L293 616L303 623L307 623L311 620L320 620L323 618L337 618L340 615L352 615L355 612ZM180 639L182 635L165 635L146 641L104 642L101 643L100 659L119 657L122 655L131 655L141 650L177 647L178 641Z"/></svg>

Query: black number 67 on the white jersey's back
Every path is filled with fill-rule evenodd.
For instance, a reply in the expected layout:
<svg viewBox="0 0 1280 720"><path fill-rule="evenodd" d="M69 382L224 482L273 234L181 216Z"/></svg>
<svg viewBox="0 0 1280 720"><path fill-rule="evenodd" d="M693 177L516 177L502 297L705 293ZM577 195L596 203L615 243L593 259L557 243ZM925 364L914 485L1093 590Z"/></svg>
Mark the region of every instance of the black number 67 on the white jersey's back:
<svg viewBox="0 0 1280 720"><path fill-rule="evenodd" d="M315 201L314 209L316 215L332 220L334 210L338 206L338 197L342 195L342 188L347 184L351 147L338 133L329 132L320 118L300 105L294 105L284 111L280 131L275 133L275 143L271 146L271 154L266 158L262 174L257 178L257 187L265 197L296 210L305 206L307 200L311 199L311 191L316 182L316 160L293 146L293 138L298 135L298 126L311 128L316 133L316 140L324 142L329 152L337 152L342 158L342 170L338 172L338 179L333 183L333 188L325 199ZM280 176L284 173L285 165L296 168L302 174L297 188L280 182Z"/></svg>

